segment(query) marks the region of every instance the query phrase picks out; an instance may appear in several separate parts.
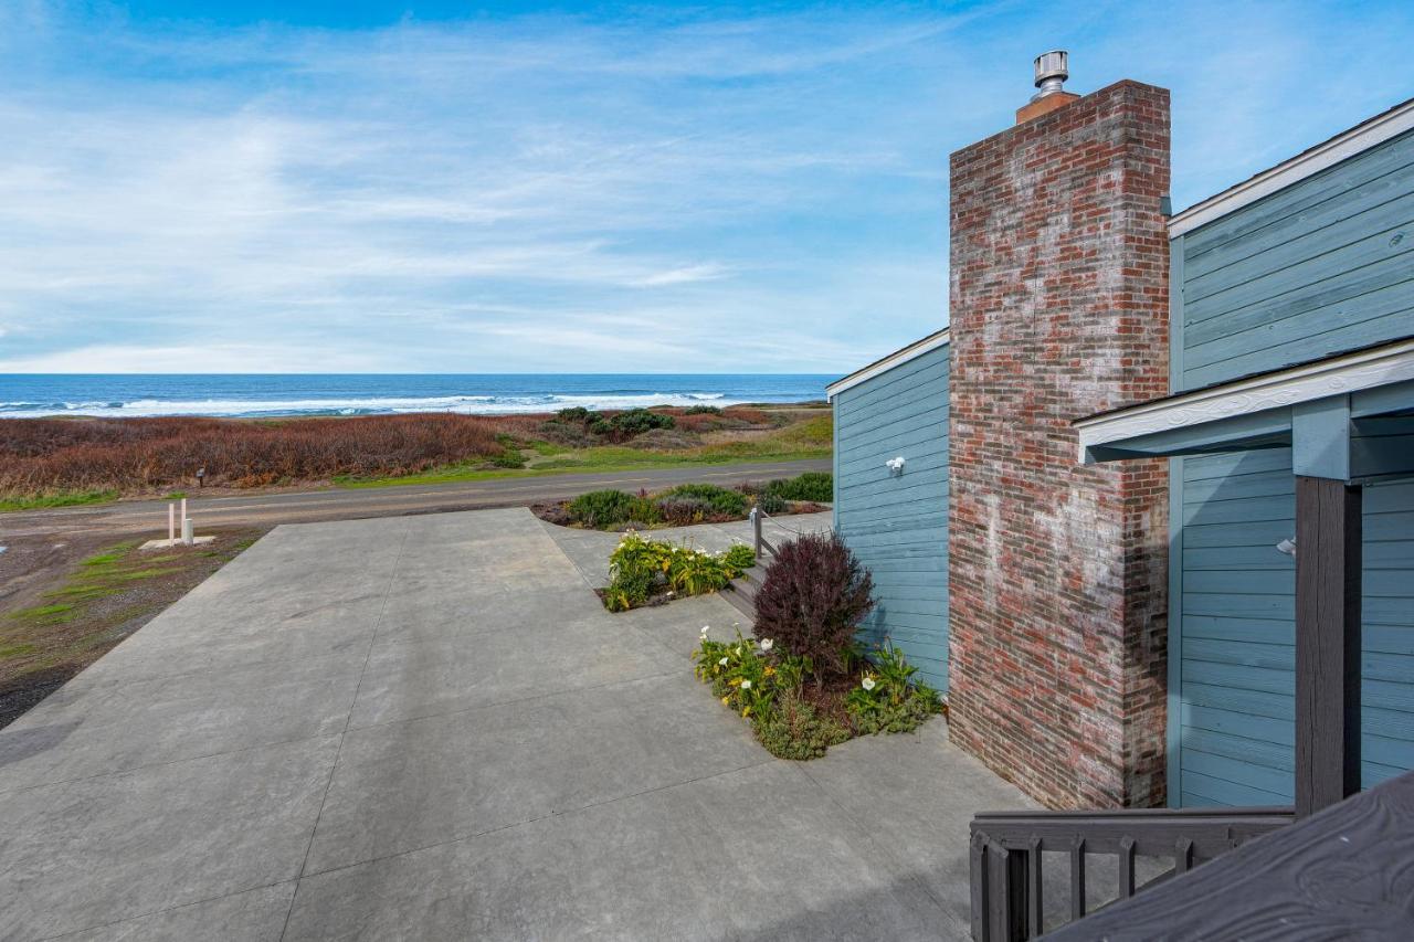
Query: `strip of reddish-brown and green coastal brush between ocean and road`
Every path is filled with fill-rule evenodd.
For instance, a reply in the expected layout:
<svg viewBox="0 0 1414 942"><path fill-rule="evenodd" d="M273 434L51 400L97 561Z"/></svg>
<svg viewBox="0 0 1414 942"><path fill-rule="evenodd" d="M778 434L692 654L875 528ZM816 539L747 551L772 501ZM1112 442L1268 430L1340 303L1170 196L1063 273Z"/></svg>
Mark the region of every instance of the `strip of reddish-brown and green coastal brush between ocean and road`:
<svg viewBox="0 0 1414 942"><path fill-rule="evenodd" d="M554 416L417 413L327 419L0 419L0 509L59 506L120 494L417 479L448 470L575 470L608 463L751 458L751 443L711 436L779 433L785 448L827 448L829 429L749 406ZM792 424L795 423L795 424ZM819 423L816 423L819 424ZM813 431L806 433L806 426ZM823 437L822 437L823 436ZM797 441L799 438L799 441ZM618 450L618 454L607 454ZM721 453L721 454L718 454ZM658 458L655 458L658 455ZM674 458L676 460L676 458Z"/></svg>

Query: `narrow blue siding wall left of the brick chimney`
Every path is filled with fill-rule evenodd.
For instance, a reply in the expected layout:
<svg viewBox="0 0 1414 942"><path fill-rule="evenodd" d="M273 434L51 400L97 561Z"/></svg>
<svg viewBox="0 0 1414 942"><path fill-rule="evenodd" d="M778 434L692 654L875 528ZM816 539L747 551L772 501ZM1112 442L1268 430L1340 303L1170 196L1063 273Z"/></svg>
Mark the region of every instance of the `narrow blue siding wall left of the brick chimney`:
<svg viewBox="0 0 1414 942"><path fill-rule="evenodd" d="M874 574L871 644L947 690L947 347L834 397L834 523ZM904 455L904 474L884 463Z"/></svg>

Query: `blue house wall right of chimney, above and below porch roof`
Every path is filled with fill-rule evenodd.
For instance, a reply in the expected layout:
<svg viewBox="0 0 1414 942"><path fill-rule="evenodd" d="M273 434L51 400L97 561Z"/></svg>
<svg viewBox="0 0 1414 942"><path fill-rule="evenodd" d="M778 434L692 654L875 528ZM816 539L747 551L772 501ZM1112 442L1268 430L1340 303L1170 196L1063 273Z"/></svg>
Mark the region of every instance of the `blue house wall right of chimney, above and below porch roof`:
<svg viewBox="0 0 1414 942"><path fill-rule="evenodd" d="M1414 133L1174 240L1175 389L1414 334ZM1171 803L1292 801L1288 450L1175 460ZM1414 768L1414 482L1365 491L1363 778Z"/></svg>

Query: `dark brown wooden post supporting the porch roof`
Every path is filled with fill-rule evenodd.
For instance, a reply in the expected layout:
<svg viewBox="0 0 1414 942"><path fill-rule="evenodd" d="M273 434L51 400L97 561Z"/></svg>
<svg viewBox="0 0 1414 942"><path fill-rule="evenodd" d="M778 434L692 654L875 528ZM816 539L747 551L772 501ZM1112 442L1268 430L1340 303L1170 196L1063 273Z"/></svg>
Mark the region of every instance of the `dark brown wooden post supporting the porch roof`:
<svg viewBox="0 0 1414 942"><path fill-rule="evenodd" d="M1360 488L1297 477L1297 816L1360 791Z"/></svg>

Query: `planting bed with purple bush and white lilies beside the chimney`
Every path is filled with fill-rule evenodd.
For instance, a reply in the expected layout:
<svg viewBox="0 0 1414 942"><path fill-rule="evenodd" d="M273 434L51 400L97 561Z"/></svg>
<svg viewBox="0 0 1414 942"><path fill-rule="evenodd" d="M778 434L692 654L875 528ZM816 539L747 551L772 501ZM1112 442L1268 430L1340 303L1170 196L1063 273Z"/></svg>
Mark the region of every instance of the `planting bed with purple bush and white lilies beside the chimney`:
<svg viewBox="0 0 1414 942"><path fill-rule="evenodd" d="M834 535L781 547L756 594L752 638L703 627L696 673L779 758L809 760L855 735L908 733L943 710L888 639L855 639L872 580Z"/></svg>

